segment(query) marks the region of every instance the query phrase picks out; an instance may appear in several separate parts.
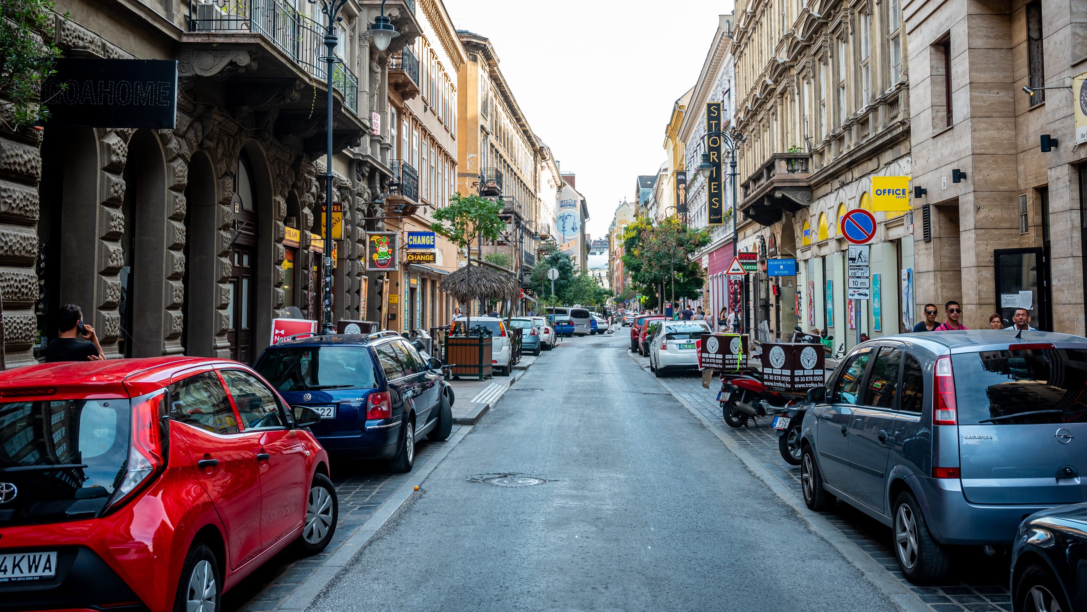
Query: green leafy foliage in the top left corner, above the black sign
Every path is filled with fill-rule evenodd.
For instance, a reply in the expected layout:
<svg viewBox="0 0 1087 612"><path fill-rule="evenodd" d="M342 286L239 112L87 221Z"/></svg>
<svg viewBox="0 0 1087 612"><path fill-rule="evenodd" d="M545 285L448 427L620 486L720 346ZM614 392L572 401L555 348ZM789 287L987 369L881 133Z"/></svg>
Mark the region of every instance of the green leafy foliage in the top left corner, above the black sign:
<svg viewBox="0 0 1087 612"><path fill-rule="evenodd" d="M49 0L0 2L0 124L9 129L49 117L48 100L38 95L61 57L52 43L52 9Z"/></svg>

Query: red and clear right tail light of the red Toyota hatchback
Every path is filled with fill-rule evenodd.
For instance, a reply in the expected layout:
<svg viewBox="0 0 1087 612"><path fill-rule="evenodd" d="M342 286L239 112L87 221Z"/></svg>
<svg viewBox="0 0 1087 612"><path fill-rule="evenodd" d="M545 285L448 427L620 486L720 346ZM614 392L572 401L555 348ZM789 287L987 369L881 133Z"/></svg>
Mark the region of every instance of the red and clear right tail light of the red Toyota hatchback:
<svg viewBox="0 0 1087 612"><path fill-rule="evenodd" d="M129 498L166 465L164 435L166 391L133 399L133 425L128 444L128 461L124 466L121 484L113 490L108 508L117 507Z"/></svg>

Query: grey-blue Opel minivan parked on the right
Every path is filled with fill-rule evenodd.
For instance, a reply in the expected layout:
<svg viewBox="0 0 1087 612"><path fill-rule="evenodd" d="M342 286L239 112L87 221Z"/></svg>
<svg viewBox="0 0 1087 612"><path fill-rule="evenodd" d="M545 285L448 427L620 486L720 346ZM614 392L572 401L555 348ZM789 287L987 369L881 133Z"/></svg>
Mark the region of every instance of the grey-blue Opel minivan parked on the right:
<svg viewBox="0 0 1087 612"><path fill-rule="evenodd" d="M952 546L1007 547L1024 516L1087 501L1087 338L889 336L850 351L808 400L804 502L837 498L891 527L914 583L940 579Z"/></svg>

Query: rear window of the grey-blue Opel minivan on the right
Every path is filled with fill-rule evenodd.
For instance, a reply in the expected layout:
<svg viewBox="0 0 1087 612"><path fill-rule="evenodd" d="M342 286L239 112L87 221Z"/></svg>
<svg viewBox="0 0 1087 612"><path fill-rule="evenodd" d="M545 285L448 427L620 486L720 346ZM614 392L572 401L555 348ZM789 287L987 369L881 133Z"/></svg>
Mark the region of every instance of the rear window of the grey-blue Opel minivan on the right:
<svg viewBox="0 0 1087 612"><path fill-rule="evenodd" d="M951 370L960 425L1087 423L1087 351L959 353Z"/></svg>

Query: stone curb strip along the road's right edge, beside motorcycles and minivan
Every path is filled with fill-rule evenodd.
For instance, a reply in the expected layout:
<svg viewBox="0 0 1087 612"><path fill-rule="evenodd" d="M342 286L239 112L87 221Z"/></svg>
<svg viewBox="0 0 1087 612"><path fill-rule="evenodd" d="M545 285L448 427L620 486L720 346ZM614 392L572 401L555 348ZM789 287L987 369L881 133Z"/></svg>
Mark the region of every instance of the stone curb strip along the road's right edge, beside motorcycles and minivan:
<svg viewBox="0 0 1087 612"><path fill-rule="evenodd" d="M635 358L633 353L629 353L632 359ZM637 360L636 360L637 362ZM771 491L774 492L780 499L792 509L792 511L808 523L808 527L817 536L826 540L830 546L838 550L838 552L857 567L861 574L867 578L869 582L874 584L879 590L887 594L890 599L902 608L905 612L930 612L932 609L927 603L921 601L915 592L905 587L901 580L899 580L894 574L888 572L883 565L876 563L874 559L869 557L857 542L847 538L826 520L825 516L817 512L812 512L808 510L804 503L797 499L792 491L782 483L777 476L774 476L769 470L766 470L762 463L759 462L748 451L744 450L735 440L733 440L727 434L725 434L721 427L715 423L711 422L703 415L697 408L690 404L686 399L684 399L678 392L676 392L667 383L661 380L660 378L653 378L657 380L661 387L664 388L673 398L676 399L687 412L690 412L702 424L703 427L709 429L713 435L720 439L725 447L733 452L744 465L751 471L755 476L762 480Z"/></svg>

